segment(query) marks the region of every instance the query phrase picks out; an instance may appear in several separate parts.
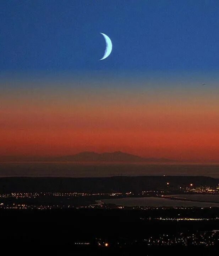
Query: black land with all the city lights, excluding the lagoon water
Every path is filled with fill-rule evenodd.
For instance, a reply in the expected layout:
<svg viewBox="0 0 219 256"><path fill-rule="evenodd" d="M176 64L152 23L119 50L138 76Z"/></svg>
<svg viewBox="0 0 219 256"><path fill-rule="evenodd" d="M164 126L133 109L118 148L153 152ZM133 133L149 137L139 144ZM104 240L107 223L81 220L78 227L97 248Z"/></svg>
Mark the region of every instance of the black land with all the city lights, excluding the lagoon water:
<svg viewBox="0 0 219 256"><path fill-rule="evenodd" d="M170 193L217 195L218 183L204 176L0 178L1 250L22 255L218 255L217 207L95 202Z"/></svg>

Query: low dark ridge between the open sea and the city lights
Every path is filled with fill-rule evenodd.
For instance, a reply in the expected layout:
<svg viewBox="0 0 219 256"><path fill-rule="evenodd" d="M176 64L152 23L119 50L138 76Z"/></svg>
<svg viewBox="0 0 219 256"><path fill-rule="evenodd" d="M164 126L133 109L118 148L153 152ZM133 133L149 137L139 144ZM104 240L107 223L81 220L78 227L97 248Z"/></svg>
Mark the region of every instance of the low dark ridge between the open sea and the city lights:
<svg viewBox="0 0 219 256"><path fill-rule="evenodd" d="M169 183L169 185L167 185ZM218 186L219 179L205 176L115 176L103 178L3 177L0 193L11 192L86 192L138 193L150 190L177 190L190 184Z"/></svg>

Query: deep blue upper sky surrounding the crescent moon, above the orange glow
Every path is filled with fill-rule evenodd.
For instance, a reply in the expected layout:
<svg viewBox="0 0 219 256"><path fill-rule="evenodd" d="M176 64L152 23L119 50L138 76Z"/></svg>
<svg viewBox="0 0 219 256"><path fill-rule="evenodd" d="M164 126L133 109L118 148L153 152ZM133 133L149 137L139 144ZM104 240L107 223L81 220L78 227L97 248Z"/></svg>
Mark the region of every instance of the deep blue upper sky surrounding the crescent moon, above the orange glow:
<svg viewBox="0 0 219 256"><path fill-rule="evenodd" d="M0 72L96 70L219 70L219 1L0 2Z"/></svg>

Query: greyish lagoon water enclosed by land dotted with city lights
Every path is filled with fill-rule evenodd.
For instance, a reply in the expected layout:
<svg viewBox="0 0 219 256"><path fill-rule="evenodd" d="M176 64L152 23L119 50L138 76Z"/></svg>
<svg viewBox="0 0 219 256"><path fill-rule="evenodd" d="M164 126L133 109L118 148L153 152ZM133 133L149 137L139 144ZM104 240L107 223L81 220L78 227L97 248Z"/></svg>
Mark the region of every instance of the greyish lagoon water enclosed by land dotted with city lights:
<svg viewBox="0 0 219 256"><path fill-rule="evenodd" d="M210 198L208 199L210 200L210 202L181 201L181 200L172 200L172 199L166 199L161 197L128 197L128 198L126 197L126 198L104 199L101 201L104 203L111 203L111 204L116 204L121 206L219 207L219 203L213 203Z"/></svg>

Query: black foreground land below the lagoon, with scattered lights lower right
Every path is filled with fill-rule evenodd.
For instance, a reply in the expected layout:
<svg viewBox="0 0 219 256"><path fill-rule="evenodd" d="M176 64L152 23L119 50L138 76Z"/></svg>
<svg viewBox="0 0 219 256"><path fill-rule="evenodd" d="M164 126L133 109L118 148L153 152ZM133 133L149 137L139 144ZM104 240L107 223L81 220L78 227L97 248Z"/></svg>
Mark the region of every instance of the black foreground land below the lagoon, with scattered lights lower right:
<svg viewBox="0 0 219 256"><path fill-rule="evenodd" d="M42 255L217 255L219 221L215 218L153 218L178 214L180 209L1 210L1 247ZM198 217L217 214L217 209L209 214L207 209L193 210Z"/></svg>

